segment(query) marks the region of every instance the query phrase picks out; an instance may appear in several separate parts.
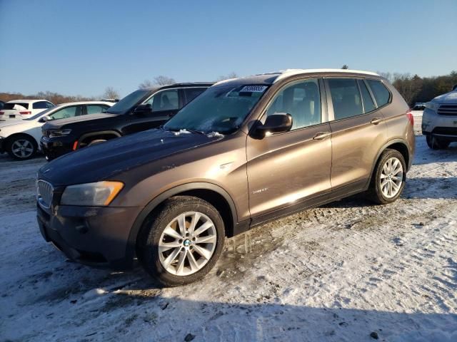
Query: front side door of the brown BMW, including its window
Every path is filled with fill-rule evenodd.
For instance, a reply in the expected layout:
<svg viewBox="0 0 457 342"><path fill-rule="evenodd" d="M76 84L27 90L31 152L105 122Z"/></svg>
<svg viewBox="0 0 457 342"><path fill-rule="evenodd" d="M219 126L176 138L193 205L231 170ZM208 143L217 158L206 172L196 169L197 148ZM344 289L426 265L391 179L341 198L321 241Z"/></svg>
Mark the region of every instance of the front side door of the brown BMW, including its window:
<svg viewBox="0 0 457 342"><path fill-rule="evenodd" d="M261 121L267 115L288 113L293 120L291 130L263 139L247 138L251 217L331 191L330 126L319 88L318 79L288 83Z"/></svg>

